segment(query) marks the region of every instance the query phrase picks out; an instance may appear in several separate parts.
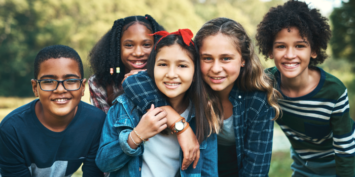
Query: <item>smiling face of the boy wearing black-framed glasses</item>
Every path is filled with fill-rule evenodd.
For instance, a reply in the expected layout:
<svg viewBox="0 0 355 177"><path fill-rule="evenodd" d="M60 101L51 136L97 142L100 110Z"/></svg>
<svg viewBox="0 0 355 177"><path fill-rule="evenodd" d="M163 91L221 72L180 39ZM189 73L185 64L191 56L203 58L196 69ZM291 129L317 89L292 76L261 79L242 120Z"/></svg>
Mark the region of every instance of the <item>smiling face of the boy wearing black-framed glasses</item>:
<svg viewBox="0 0 355 177"><path fill-rule="evenodd" d="M59 66L59 67L58 67ZM38 80L41 79L80 79L78 63L75 60L68 58L49 59L41 63ZM43 111L45 114L53 117L65 117L67 115L74 115L75 108L78 106L81 97L84 96L85 81L80 86L79 90L67 91L63 85L59 83L54 91L42 91L39 83L35 80L32 82L32 90L36 97L39 97Z"/></svg>

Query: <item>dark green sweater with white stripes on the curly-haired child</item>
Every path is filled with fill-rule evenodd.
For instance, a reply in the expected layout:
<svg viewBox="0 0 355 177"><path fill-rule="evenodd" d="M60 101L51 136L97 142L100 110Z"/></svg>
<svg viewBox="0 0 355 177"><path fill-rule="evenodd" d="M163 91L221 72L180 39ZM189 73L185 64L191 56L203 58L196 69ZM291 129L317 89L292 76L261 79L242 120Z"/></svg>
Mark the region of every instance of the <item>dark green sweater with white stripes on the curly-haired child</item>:
<svg viewBox="0 0 355 177"><path fill-rule="evenodd" d="M321 80L309 94L279 100L282 117L276 122L304 160L335 159L337 176L355 175L354 121L349 116L347 89L335 76L321 71ZM280 72L268 68L280 88ZM279 90L280 91L280 90ZM277 146L277 145L276 145Z"/></svg>

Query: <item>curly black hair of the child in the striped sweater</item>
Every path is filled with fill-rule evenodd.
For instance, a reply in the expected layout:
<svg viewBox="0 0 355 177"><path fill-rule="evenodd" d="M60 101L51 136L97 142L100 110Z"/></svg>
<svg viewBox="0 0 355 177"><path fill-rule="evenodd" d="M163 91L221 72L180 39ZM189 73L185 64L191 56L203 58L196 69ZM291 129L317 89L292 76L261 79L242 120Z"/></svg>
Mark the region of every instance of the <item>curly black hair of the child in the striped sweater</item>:
<svg viewBox="0 0 355 177"><path fill-rule="evenodd" d="M259 53L265 55L267 60L277 32L284 28L290 31L291 27L297 27L301 37L307 37L312 51L317 53L315 59L310 59L308 66L322 64L328 57L326 50L331 37L328 19L319 10L311 9L306 3L299 1L289 1L283 6L270 8L257 29Z"/></svg>

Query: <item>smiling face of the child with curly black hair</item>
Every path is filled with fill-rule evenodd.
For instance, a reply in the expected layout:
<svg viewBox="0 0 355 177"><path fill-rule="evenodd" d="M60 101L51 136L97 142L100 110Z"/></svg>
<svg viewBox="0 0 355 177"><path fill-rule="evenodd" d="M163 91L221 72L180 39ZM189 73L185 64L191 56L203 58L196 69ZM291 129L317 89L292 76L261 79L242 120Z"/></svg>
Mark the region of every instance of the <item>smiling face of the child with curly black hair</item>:
<svg viewBox="0 0 355 177"><path fill-rule="evenodd" d="M304 37L305 41L307 38ZM317 54L300 36L295 27L282 29L275 35L270 58L274 59L275 66L287 78L295 78L307 72L310 58Z"/></svg>

